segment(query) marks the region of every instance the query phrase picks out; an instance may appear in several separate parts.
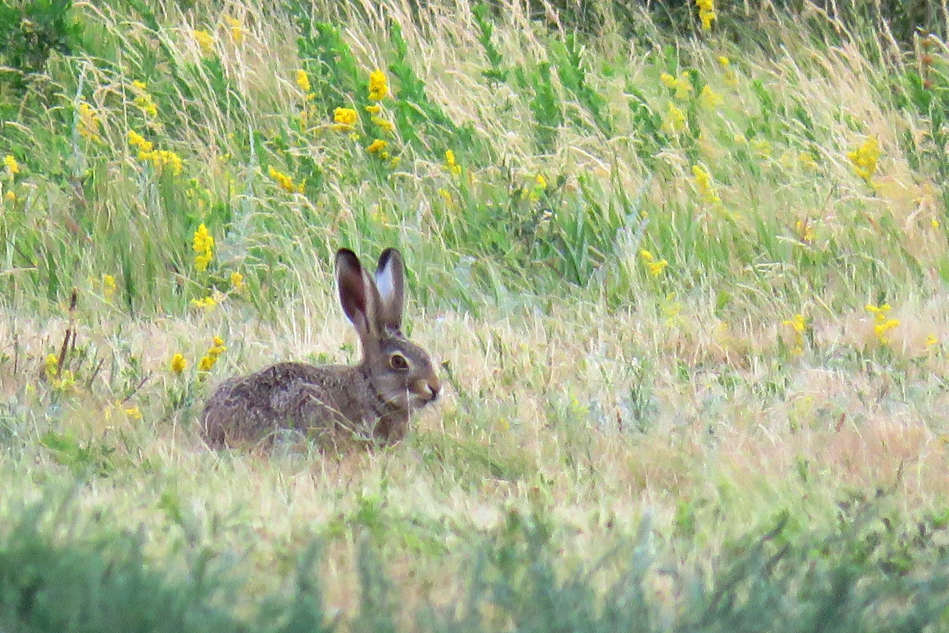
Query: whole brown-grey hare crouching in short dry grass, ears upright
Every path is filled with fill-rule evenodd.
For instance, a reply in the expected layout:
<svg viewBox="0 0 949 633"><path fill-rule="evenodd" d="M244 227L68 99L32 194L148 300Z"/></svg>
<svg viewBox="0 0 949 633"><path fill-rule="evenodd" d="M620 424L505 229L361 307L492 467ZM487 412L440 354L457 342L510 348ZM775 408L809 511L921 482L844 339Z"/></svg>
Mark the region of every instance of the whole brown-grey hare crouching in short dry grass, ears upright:
<svg viewBox="0 0 949 633"><path fill-rule="evenodd" d="M336 253L340 303L363 348L358 365L277 363L217 387L201 416L209 445L270 440L281 429L318 442L399 441L409 416L441 386L428 354L401 333L404 272L396 249L382 251L375 280L353 251Z"/></svg>

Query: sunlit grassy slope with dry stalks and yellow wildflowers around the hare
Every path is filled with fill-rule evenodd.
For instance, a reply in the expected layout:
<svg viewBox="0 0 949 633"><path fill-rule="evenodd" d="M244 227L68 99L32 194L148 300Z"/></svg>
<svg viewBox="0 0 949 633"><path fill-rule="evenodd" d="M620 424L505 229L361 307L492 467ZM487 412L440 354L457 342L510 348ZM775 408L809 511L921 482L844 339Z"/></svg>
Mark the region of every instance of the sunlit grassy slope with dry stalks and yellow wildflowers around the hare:
<svg viewBox="0 0 949 633"><path fill-rule="evenodd" d="M782 511L807 531L878 488L902 513L943 507L946 361L929 337L949 336L944 157L914 56L742 15L741 47L673 40L643 16L636 37L607 26L581 48L512 5L490 18L493 81L466 3L420 25L391 9L404 55L368 7L333 19L338 41L282 9L153 9L77 9L88 55L54 59L2 128L0 155L22 166L3 177L15 199L0 219L5 512L84 474L81 515L142 526L146 556L170 569L195 548L232 552L248 605L289 586L322 536L326 602L348 612L365 533L411 610L463 595L468 544L506 509L544 509L585 561L648 513L685 569ZM939 99L945 51L931 54ZM333 108L363 111L376 67L395 131L367 115L358 139L332 129ZM660 75L686 69L677 99ZM82 102L99 121L91 139ZM685 129L669 127L670 103ZM144 164L129 130L175 152L182 173ZM883 150L872 184L847 158L868 136ZM397 165L365 152L375 138ZM271 167L306 178L303 191ZM216 240L207 271L193 261L201 222ZM386 451L206 449L195 418L222 377L355 358L330 253L392 243L411 269L413 336L450 367L445 400ZM642 249L668 266L653 275ZM73 287L76 384L57 389L38 376ZM191 305L206 296L218 306ZM888 342L867 303L892 306ZM798 313L800 338L783 323ZM228 350L199 380L214 336ZM660 581L659 602L683 600Z"/></svg>

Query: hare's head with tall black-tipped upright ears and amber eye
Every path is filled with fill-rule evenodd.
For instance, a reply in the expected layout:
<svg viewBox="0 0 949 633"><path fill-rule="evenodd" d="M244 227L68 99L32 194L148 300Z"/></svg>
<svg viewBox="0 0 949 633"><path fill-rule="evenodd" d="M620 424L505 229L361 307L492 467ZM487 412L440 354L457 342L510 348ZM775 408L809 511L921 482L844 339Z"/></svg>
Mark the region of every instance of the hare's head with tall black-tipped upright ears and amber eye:
<svg viewBox="0 0 949 633"><path fill-rule="evenodd" d="M353 251L340 249L336 279L340 303L363 344L363 375L379 399L404 411L435 400L441 384L432 360L401 332L405 283L400 252L382 251L373 278Z"/></svg>

